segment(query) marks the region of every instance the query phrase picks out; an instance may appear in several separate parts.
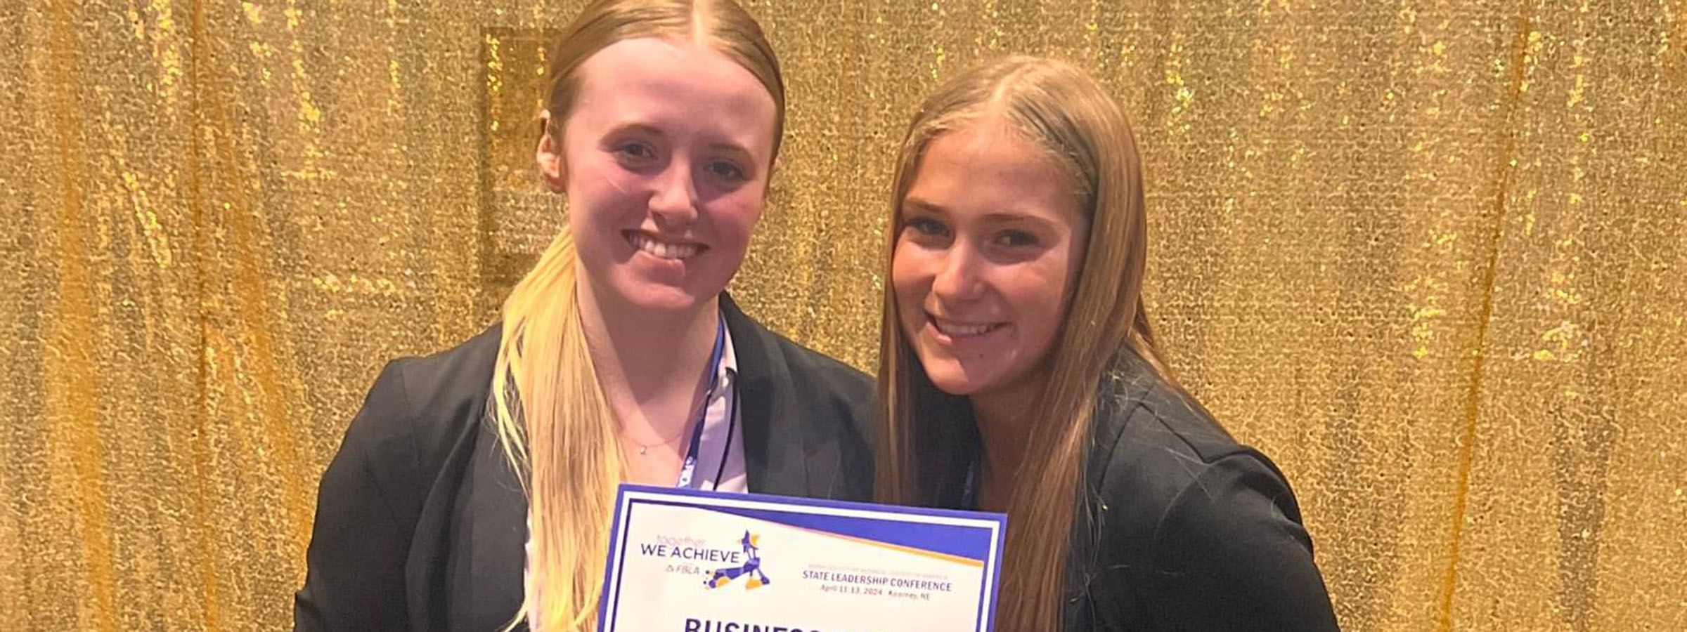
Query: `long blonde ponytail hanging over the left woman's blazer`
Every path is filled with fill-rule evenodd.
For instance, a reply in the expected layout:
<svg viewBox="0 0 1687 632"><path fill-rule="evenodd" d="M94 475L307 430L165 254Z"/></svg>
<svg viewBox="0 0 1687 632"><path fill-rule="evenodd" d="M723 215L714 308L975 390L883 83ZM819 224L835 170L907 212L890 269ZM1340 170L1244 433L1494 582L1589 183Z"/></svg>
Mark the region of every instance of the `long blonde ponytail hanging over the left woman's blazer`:
<svg viewBox="0 0 1687 632"><path fill-rule="evenodd" d="M533 548L520 612L547 632L597 624L597 578L624 472L580 327L575 275L574 239L562 231L504 300L493 369L499 445L528 490Z"/></svg>

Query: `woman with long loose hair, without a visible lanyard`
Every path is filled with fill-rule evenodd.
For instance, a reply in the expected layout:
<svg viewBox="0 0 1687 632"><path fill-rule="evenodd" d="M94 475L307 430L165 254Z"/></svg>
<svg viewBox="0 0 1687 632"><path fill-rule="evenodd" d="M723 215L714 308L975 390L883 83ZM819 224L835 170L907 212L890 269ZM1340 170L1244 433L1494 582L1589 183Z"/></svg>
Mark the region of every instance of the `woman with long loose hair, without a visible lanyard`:
<svg viewBox="0 0 1687 632"><path fill-rule="evenodd" d="M1076 67L945 81L894 177L877 495L1005 511L997 630L1334 630L1294 494L1169 376L1135 142Z"/></svg>

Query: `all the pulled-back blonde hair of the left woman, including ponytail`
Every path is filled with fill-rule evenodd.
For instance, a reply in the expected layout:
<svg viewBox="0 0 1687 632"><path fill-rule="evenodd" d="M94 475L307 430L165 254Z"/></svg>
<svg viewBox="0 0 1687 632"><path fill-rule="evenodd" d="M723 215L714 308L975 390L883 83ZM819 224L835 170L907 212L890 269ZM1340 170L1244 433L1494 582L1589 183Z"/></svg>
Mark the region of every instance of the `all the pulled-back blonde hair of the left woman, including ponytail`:
<svg viewBox="0 0 1687 632"><path fill-rule="evenodd" d="M756 24L732 0L599 0L550 47L540 133L563 147L562 130L579 93L579 67L611 44L661 37L709 46L747 69L773 94L774 155L784 130L779 62ZM771 165L768 165L771 167ZM577 258L567 229L504 300L503 339L493 369L491 418L504 457L528 494L530 581L509 627L533 620L543 632L597 625L607 524L626 463L614 415L580 327Z"/></svg>

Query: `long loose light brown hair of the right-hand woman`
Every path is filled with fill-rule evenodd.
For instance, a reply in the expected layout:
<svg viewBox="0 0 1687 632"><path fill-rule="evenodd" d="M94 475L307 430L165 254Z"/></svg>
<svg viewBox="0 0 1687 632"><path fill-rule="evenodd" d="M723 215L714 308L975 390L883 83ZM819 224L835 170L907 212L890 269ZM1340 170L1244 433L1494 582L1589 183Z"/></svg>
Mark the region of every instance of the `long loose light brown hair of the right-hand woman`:
<svg viewBox="0 0 1687 632"><path fill-rule="evenodd" d="M891 248L903 231L903 201L931 142L982 116L1000 116L1046 150L1070 177L1090 224L1066 319L1041 369L1048 371L1031 442L1011 480L997 629L1058 630L1066 603L1068 534L1073 531L1091 415L1102 376L1120 352L1166 372L1142 307L1147 221L1142 167L1118 104L1071 64L1012 56L945 81L914 116L896 162ZM886 276L891 271L886 263ZM884 293L879 349L881 437L877 494L897 504L953 502L957 472L977 450L965 398L936 389L901 330L896 292ZM963 474L962 474L963 475Z"/></svg>

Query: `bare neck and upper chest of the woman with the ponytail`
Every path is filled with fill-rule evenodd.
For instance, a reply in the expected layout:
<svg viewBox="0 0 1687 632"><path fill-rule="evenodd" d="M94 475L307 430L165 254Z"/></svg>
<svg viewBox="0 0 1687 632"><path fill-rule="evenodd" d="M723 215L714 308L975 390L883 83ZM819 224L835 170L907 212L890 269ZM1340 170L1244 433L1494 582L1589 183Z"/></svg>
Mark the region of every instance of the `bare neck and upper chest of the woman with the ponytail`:
<svg viewBox="0 0 1687 632"><path fill-rule="evenodd" d="M584 275L582 275L584 280ZM633 437L671 437L707 389L720 300L646 310L580 283L580 327L609 410Z"/></svg>

